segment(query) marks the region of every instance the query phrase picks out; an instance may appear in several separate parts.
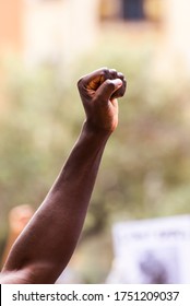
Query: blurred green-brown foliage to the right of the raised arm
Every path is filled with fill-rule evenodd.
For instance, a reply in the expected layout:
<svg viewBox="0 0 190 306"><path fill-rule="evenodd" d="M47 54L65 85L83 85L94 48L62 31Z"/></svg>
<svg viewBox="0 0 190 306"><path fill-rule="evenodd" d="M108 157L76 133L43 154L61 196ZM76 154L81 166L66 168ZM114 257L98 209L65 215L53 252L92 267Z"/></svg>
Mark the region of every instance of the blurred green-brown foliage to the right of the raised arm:
<svg viewBox="0 0 190 306"><path fill-rule="evenodd" d="M95 231L117 220L190 212L189 79L178 69L176 76L161 80L149 49L126 50L107 46L99 64L95 55L93 60L121 70L128 80L86 222Z"/></svg>

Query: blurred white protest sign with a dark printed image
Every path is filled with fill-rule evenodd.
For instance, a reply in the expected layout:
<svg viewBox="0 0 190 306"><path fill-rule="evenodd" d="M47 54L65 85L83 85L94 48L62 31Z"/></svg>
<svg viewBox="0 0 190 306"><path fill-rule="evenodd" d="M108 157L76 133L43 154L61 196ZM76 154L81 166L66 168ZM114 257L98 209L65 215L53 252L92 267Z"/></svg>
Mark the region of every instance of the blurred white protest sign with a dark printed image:
<svg viewBox="0 0 190 306"><path fill-rule="evenodd" d="M190 283L190 215L120 222L108 283Z"/></svg>

